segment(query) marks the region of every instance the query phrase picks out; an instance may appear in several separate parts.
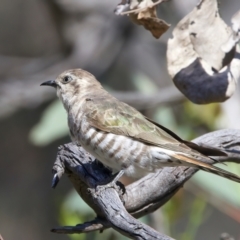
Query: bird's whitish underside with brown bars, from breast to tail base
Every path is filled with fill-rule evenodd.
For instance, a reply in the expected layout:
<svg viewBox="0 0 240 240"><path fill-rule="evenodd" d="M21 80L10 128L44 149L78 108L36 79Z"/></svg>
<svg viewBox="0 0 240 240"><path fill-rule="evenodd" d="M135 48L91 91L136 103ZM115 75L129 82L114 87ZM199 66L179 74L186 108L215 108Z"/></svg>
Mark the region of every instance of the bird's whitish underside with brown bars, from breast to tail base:
<svg viewBox="0 0 240 240"><path fill-rule="evenodd" d="M175 165L172 151L146 145L136 139L98 130L82 120L70 124L73 141L115 171L124 170L127 176L141 178L149 172Z"/></svg>

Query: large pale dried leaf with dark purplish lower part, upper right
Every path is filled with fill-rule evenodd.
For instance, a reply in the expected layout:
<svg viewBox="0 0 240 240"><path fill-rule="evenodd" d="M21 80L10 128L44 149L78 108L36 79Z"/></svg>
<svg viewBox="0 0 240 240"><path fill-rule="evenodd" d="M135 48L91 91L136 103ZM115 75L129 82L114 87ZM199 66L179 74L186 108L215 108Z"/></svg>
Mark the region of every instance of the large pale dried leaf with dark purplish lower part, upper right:
<svg viewBox="0 0 240 240"><path fill-rule="evenodd" d="M232 24L233 29L220 18L217 0L201 0L173 30L168 72L190 101L223 102L233 95L240 76L238 13Z"/></svg>

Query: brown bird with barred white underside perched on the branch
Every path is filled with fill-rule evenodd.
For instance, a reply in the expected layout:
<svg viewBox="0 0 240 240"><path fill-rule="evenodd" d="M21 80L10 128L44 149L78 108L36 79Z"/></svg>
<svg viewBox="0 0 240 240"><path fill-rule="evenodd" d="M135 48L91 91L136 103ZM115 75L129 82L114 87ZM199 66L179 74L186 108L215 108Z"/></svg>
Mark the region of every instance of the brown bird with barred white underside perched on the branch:
<svg viewBox="0 0 240 240"><path fill-rule="evenodd" d="M187 166L240 182L239 176L206 163L225 152L181 139L113 97L85 70L67 70L42 85L56 89L72 141L119 176L140 179L163 167Z"/></svg>

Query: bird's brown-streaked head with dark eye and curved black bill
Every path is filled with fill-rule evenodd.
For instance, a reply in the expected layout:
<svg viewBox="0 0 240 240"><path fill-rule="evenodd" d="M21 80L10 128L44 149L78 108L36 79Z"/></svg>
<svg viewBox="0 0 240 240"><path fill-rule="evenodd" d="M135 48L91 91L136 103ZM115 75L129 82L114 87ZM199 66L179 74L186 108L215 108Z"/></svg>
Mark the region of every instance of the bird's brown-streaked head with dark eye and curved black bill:
<svg viewBox="0 0 240 240"><path fill-rule="evenodd" d="M61 73L55 80L43 82L41 86L56 88L57 96L63 102L66 109L72 102L79 100L87 94L93 94L94 90L102 89L101 84L89 72L82 69L72 69Z"/></svg>

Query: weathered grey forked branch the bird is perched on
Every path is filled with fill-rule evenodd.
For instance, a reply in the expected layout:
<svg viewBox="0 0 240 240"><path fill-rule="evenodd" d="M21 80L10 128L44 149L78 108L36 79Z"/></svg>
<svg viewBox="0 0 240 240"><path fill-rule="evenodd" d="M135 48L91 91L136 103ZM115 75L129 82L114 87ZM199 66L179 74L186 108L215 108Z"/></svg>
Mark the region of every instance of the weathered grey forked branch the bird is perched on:
<svg viewBox="0 0 240 240"><path fill-rule="evenodd" d="M227 150L228 156L218 158L221 162L240 163L240 130L219 130L205 134L194 142ZM97 215L91 222L74 227L57 227L52 229L53 232L83 233L112 227L131 239L171 239L136 218L166 203L197 169L163 168L127 186L124 192L112 184L105 185L112 179L111 172L82 147L69 143L59 148L53 171L54 185L65 172L78 194Z"/></svg>

